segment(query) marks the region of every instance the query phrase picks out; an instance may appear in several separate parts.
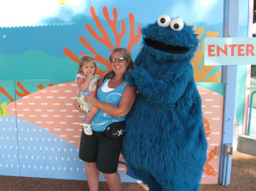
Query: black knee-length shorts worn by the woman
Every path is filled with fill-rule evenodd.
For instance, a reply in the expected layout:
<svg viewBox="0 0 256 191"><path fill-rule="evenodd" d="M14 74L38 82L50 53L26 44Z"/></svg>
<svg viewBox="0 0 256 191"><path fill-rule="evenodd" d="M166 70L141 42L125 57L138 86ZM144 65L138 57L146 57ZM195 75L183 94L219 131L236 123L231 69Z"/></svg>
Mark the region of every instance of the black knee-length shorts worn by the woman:
<svg viewBox="0 0 256 191"><path fill-rule="evenodd" d="M82 130L79 158L84 162L94 163L102 173L115 173L122 148L122 138L109 139L103 132L93 131L86 135Z"/></svg>

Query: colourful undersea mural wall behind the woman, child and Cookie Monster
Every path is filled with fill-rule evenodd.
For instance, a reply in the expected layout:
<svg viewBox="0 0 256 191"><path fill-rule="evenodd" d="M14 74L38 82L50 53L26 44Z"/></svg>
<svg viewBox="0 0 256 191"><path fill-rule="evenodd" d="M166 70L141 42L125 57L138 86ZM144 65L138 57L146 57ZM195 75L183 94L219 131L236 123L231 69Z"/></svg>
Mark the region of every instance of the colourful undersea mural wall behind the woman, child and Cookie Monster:
<svg viewBox="0 0 256 191"><path fill-rule="evenodd" d="M85 164L78 157L84 116L73 107L79 57L94 56L102 75L110 69L110 50L122 46L135 58L140 29L167 14L192 24L199 35L192 64L208 139L201 183L217 184L224 85L221 66L204 65L204 38L222 37L223 4L220 0L1 2L0 175L85 180ZM242 25L241 31L245 28ZM122 155L118 170L122 181L138 181ZM100 179L104 180L102 175Z"/></svg>

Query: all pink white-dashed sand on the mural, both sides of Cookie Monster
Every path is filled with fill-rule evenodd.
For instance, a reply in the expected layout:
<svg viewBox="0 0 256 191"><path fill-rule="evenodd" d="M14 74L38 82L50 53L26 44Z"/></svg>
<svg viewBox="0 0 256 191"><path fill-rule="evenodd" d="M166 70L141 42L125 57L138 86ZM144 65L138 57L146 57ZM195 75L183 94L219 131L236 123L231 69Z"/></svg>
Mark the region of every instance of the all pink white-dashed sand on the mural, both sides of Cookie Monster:
<svg viewBox="0 0 256 191"><path fill-rule="evenodd" d="M204 167L202 184L217 184L220 165L223 96L206 88L198 87L202 97L205 133L208 141L208 159ZM76 82L57 84L23 96L6 106L7 112L36 124L41 128L79 147L81 126L84 118L73 107L77 99ZM18 130L22 127L18 127ZM122 154L119 171L130 171Z"/></svg>

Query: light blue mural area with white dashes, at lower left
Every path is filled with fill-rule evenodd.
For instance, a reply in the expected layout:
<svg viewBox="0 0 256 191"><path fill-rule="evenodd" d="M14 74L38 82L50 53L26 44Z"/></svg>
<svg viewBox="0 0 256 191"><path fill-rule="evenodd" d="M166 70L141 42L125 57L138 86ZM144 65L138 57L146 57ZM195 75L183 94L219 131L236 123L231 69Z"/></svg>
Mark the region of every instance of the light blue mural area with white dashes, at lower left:
<svg viewBox="0 0 256 191"><path fill-rule="evenodd" d="M86 180L85 162L72 143L14 116L0 118L0 135L0 175Z"/></svg>

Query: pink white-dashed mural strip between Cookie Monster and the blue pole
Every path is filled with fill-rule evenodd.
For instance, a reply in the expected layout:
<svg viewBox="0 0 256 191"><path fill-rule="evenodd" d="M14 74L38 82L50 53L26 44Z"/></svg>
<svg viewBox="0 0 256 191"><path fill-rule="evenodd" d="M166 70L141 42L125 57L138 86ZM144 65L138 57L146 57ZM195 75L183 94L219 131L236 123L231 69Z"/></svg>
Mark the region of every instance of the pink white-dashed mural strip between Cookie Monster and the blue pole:
<svg viewBox="0 0 256 191"><path fill-rule="evenodd" d="M224 97L205 88L198 87L198 89L202 98L205 134L208 142L208 158L201 183L218 184Z"/></svg>

